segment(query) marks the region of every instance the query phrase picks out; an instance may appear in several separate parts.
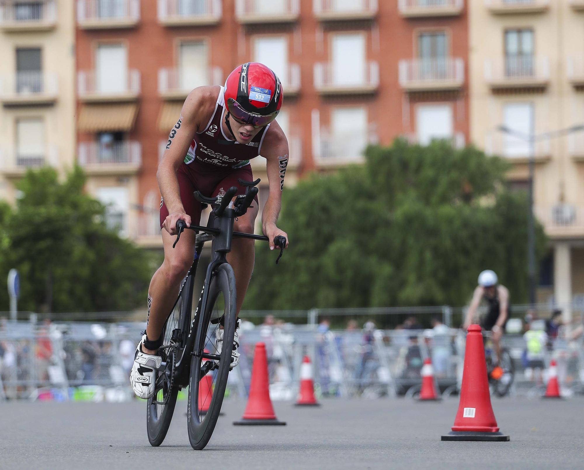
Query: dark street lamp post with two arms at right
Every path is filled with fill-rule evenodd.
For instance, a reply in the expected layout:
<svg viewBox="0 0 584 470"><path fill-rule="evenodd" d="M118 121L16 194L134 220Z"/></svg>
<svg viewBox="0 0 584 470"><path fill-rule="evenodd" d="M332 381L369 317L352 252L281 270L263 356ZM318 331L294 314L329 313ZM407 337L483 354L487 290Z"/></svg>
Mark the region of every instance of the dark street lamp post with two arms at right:
<svg viewBox="0 0 584 470"><path fill-rule="evenodd" d="M544 132L541 134L524 134L510 129L507 126L498 126L497 130L504 132L518 139L529 143L529 158L527 168L529 171L529 181L527 186L527 277L529 282L529 304L533 308L536 304L536 234L533 215L533 183L536 175L536 141L544 139L554 139L565 136L573 132L584 130L584 125L568 127L568 129Z"/></svg>

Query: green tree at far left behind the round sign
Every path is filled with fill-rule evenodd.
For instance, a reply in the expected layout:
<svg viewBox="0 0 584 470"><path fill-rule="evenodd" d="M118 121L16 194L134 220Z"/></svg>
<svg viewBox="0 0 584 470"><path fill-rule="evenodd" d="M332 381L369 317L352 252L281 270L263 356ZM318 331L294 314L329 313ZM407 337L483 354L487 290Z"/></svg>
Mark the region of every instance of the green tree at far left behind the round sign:
<svg viewBox="0 0 584 470"><path fill-rule="evenodd" d="M84 186L79 167L63 182L52 168L29 170L16 208L0 207L0 277L19 269L19 310L128 310L145 303L150 255L107 228L106 208ZM6 298L0 302L7 309Z"/></svg>

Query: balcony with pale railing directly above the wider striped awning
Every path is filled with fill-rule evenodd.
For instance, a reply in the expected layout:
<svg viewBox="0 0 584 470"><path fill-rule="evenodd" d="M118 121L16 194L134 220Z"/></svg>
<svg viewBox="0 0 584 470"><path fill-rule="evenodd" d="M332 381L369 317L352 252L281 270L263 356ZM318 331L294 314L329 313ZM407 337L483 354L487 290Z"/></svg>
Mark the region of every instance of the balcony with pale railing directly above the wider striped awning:
<svg viewBox="0 0 584 470"><path fill-rule="evenodd" d="M79 71L77 92L79 100L86 103L136 101L140 96L140 71L128 70L126 80L117 83L96 76L95 70Z"/></svg>

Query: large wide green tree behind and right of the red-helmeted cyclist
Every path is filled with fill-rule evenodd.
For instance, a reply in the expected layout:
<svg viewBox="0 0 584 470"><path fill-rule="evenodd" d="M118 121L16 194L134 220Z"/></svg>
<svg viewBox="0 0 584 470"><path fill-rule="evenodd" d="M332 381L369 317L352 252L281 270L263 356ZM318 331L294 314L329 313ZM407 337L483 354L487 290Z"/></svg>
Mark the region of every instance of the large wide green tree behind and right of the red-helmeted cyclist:
<svg viewBox="0 0 584 470"><path fill-rule="evenodd" d="M527 198L505 189L506 170L475 147L396 140L312 175L284 192L290 248L276 266L258 245L244 308L464 305L482 269L526 300Z"/></svg>

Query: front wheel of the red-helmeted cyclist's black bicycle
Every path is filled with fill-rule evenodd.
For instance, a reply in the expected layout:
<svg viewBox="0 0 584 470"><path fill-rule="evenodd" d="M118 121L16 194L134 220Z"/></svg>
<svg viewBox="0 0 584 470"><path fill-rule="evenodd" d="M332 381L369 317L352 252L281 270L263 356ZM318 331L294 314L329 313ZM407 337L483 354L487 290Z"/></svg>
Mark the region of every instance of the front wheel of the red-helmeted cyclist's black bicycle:
<svg viewBox="0 0 584 470"><path fill-rule="evenodd" d="M223 336L223 350L219 364L215 371L214 378L216 379L210 386L206 396L202 396L204 400L209 400L208 409L203 414L199 410L199 383L204 377L201 367L205 360L200 357L192 358L190 365L190 379L189 379L189 400L187 405L187 428L189 431L189 441L195 450L202 450L207 445L213 434L215 424L221 411L223 398L225 396L225 388L227 387L227 378L231 365L231 345L235 334L235 326L237 322L237 311L235 305L235 274L233 268L228 263L221 264L214 277L211 279L207 297L207 305L204 307L204 315L201 316L197 324L197 336L194 344L194 351L202 352L206 348L214 347L211 336L214 334L211 325L213 317L218 318L224 315L224 336ZM221 298L224 300L223 309L220 308ZM218 327L215 326L215 329ZM208 334L209 330L213 333ZM229 345L229 347L225 347ZM210 351L216 354L217 351ZM211 379L213 380L213 379ZM194 386L197 384L197 386ZM204 392L203 392L204 393ZM209 397L209 393L211 396ZM207 402L206 402L207 403Z"/></svg>

